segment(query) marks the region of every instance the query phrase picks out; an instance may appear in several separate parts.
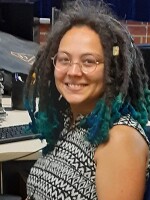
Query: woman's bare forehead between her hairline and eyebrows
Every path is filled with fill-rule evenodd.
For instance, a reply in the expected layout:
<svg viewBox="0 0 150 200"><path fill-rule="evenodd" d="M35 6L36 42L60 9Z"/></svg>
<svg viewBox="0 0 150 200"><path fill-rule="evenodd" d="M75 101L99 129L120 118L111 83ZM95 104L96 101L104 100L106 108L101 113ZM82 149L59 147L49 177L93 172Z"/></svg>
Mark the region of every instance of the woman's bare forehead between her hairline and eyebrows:
<svg viewBox="0 0 150 200"><path fill-rule="evenodd" d="M59 51L101 54L103 52L99 35L88 26L74 26L62 37Z"/></svg>

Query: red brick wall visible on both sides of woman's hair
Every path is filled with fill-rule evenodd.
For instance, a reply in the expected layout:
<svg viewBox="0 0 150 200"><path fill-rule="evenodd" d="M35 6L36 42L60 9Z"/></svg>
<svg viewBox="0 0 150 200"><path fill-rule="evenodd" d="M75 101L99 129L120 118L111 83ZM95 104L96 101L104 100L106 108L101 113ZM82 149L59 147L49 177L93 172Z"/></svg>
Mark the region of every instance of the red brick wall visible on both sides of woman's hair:
<svg viewBox="0 0 150 200"><path fill-rule="evenodd" d="M150 22L125 21L136 44L150 43ZM50 23L40 23L39 43L44 44L47 39L47 33L50 30Z"/></svg>

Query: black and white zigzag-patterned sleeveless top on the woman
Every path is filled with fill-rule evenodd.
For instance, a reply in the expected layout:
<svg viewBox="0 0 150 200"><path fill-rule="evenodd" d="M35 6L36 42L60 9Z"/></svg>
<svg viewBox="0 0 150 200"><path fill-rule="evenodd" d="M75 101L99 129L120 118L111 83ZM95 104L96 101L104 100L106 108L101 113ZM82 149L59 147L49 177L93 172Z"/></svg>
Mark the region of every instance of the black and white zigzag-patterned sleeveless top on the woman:
<svg viewBox="0 0 150 200"><path fill-rule="evenodd" d="M97 200L94 152L96 146L85 140L86 130L79 121L69 129L69 117L54 150L39 158L31 168L27 179L28 199L35 200ZM149 141L140 124L130 115L115 123L135 128ZM147 175L150 168L147 165ZM30 198L32 197L32 198Z"/></svg>

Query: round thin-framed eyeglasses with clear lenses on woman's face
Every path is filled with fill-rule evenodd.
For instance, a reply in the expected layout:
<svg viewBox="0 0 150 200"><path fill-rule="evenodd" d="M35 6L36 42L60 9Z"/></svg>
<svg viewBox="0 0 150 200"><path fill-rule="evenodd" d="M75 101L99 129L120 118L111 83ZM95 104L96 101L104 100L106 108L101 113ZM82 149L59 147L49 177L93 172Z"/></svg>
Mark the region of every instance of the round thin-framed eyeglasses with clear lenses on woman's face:
<svg viewBox="0 0 150 200"><path fill-rule="evenodd" d="M96 69L97 65L101 63L97 61L94 55L91 54L83 55L79 63L73 63L71 60L71 56L64 52L58 52L51 59L53 60L53 65L55 69L60 72L66 72L73 64L78 64L81 71L85 74L88 74L93 72Z"/></svg>

